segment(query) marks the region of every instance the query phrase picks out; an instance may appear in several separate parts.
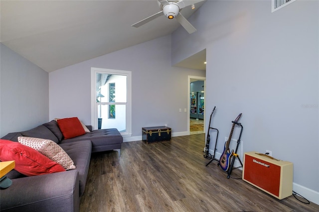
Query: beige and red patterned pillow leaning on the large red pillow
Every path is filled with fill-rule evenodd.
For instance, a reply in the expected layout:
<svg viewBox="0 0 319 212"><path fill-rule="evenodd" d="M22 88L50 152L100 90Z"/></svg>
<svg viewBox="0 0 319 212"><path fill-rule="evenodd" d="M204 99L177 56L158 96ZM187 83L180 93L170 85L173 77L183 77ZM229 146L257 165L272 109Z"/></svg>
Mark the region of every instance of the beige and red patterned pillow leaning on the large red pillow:
<svg viewBox="0 0 319 212"><path fill-rule="evenodd" d="M31 147L50 160L57 162L64 169L75 169L70 156L54 141L42 138L18 137L19 143Z"/></svg>

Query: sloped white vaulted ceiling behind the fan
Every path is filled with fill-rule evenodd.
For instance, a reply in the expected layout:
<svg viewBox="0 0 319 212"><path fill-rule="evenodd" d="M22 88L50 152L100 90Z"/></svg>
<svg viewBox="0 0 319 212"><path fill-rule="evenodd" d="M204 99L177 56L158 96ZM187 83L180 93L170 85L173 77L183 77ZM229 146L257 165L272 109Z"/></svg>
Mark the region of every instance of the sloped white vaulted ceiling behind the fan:
<svg viewBox="0 0 319 212"><path fill-rule="evenodd" d="M195 9L182 9L186 18L205 1L195 2ZM171 34L181 27L164 16L139 28L131 26L159 11L157 0L1 0L0 41L51 72ZM203 70L202 60L199 66L196 61L190 57L180 66Z"/></svg>

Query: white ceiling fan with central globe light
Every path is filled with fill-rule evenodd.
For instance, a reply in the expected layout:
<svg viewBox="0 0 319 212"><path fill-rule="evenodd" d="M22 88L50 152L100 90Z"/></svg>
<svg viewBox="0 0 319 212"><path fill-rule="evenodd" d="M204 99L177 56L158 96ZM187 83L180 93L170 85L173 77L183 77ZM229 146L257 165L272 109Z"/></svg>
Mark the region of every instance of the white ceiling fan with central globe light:
<svg viewBox="0 0 319 212"><path fill-rule="evenodd" d="M193 9L195 8L194 3L199 1L201 0L187 0L186 2L184 2L184 0L158 0L160 12L143 19L132 26L140 27L151 20L160 17L161 15L165 15L165 17L168 19L176 18L176 20L186 29L186 31L191 34L196 31L195 27L193 27L179 11L189 5L191 5Z"/></svg>

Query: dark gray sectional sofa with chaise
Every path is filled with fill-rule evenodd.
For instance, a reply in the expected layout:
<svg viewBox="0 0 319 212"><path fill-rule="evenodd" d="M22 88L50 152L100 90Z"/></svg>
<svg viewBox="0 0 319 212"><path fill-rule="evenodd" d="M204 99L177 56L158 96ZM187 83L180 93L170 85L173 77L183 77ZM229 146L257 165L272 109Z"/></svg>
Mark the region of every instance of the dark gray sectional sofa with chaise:
<svg viewBox="0 0 319 212"><path fill-rule="evenodd" d="M115 129L93 130L64 139L55 120L23 132L8 133L1 139L18 141L19 136L50 139L73 160L76 169L38 176L25 176L12 170L6 176L12 185L0 190L1 212L78 212L84 193L92 152L117 150L123 142Z"/></svg>

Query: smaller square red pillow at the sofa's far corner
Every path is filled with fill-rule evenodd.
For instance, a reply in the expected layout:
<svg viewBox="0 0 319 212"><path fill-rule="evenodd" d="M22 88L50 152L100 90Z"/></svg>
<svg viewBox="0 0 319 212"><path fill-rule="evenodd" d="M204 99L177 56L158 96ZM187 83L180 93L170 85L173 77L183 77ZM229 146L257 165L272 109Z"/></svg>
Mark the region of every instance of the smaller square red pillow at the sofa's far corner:
<svg viewBox="0 0 319 212"><path fill-rule="evenodd" d="M77 117L61 118L57 119L56 121L58 122L64 139L69 139L85 134L83 126Z"/></svg>

